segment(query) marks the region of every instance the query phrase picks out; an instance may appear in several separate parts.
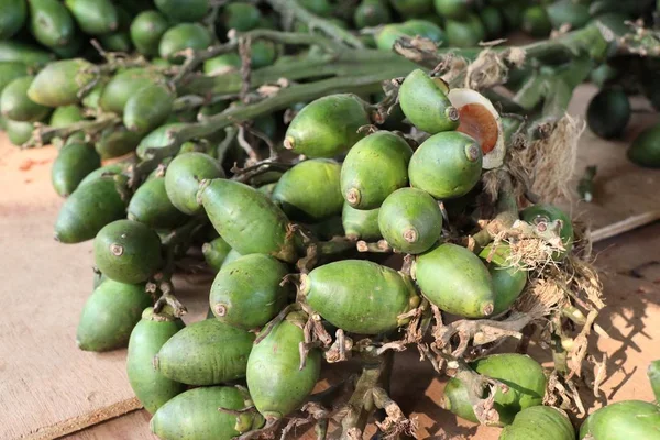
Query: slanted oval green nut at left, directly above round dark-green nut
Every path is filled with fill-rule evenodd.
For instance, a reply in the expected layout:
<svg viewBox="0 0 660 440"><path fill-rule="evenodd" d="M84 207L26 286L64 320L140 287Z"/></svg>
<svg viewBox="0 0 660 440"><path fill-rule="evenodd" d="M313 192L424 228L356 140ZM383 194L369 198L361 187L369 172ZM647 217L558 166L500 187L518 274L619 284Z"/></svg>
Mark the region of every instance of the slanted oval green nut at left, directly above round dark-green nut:
<svg viewBox="0 0 660 440"><path fill-rule="evenodd" d="M78 185L66 199L55 222L55 240L79 243L94 239L108 223L125 216L125 177L99 177Z"/></svg>

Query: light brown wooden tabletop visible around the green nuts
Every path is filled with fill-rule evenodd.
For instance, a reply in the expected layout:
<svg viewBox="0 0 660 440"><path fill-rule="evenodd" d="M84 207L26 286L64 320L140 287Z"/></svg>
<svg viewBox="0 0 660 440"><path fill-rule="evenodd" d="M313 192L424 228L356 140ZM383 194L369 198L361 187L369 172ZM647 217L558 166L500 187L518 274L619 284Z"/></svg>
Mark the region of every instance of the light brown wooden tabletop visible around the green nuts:
<svg viewBox="0 0 660 440"><path fill-rule="evenodd" d="M593 92L582 88L572 111L581 114ZM627 138L653 118L645 116ZM597 164L600 173L595 201L574 209L595 228L660 208L660 172L626 162L624 145L588 132L582 139L578 172ZM67 439L154 439L148 415L136 410L127 381L125 352L96 354L76 348L79 312L91 292L91 243L64 245L52 239L62 205L50 186L54 156L52 147L14 148L0 134L0 439L52 439L72 432ZM652 398L645 371L660 358L660 326L653 326L660 319L660 270L650 266L644 278L626 272L658 260L659 246L660 226L598 245L608 302L600 324L610 336L597 341L609 359L600 400ZM200 319L207 307L205 287L179 287L190 309L186 320ZM443 383L413 351L399 358L393 397L417 417L420 438L497 438L497 429L457 421L440 409Z"/></svg>

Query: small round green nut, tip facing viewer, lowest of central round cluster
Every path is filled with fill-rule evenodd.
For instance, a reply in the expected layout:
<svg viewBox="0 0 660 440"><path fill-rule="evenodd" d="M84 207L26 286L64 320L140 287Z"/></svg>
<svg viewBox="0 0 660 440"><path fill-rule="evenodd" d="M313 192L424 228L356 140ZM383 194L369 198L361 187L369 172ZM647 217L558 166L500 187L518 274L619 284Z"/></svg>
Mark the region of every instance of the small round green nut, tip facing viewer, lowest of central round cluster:
<svg viewBox="0 0 660 440"><path fill-rule="evenodd" d="M381 206L378 228L395 251L420 254L440 239L442 212L428 193L400 188L387 196Z"/></svg>

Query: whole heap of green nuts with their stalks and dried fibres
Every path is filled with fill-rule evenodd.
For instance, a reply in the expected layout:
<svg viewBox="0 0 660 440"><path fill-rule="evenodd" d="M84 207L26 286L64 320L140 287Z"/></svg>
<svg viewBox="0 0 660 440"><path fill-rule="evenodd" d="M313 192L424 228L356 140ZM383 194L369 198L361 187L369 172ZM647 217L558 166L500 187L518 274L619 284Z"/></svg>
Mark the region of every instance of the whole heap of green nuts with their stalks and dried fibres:
<svg viewBox="0 0 660 440"><path fill-rule="evenodd" d="M590 77L623 87L613 72L634 61L654 102L660 38L642 28L654 9L2 2L0 127L58 147L55 239L94 240L78 346L128 346L164 440L306 425L356 439L371 422L380 438L414 436L388 393L404 350L449 378L439 406L503 427L502 440L572 440L580 422L581 439L658 439L651 403L582 420L573 392L602 287L583 229L548 202L564 174L539 167L573 155L557 129ZM553 37L479 47L518 30ZM625 94L594 102L594 131L623 130ZM653 166L653 133L636 162ZM206 319L184 324L175 285L189 274L212 284L197 289ZM530 341L550 367L525 354ZM318 391L334 363L341 378Z"/></svg>

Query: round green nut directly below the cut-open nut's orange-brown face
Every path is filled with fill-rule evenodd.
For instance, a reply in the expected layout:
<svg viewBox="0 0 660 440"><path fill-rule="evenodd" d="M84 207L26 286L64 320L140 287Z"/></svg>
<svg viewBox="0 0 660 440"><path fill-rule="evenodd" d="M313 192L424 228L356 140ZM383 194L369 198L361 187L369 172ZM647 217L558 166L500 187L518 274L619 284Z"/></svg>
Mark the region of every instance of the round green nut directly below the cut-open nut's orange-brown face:
<svg viewBox="0 0 660 440"><path fill-rule="evenodd" d="M410 185L437 199L468 194L480 180L480 145L457 131L433 134L415 151L408 174Z"/></svg>

